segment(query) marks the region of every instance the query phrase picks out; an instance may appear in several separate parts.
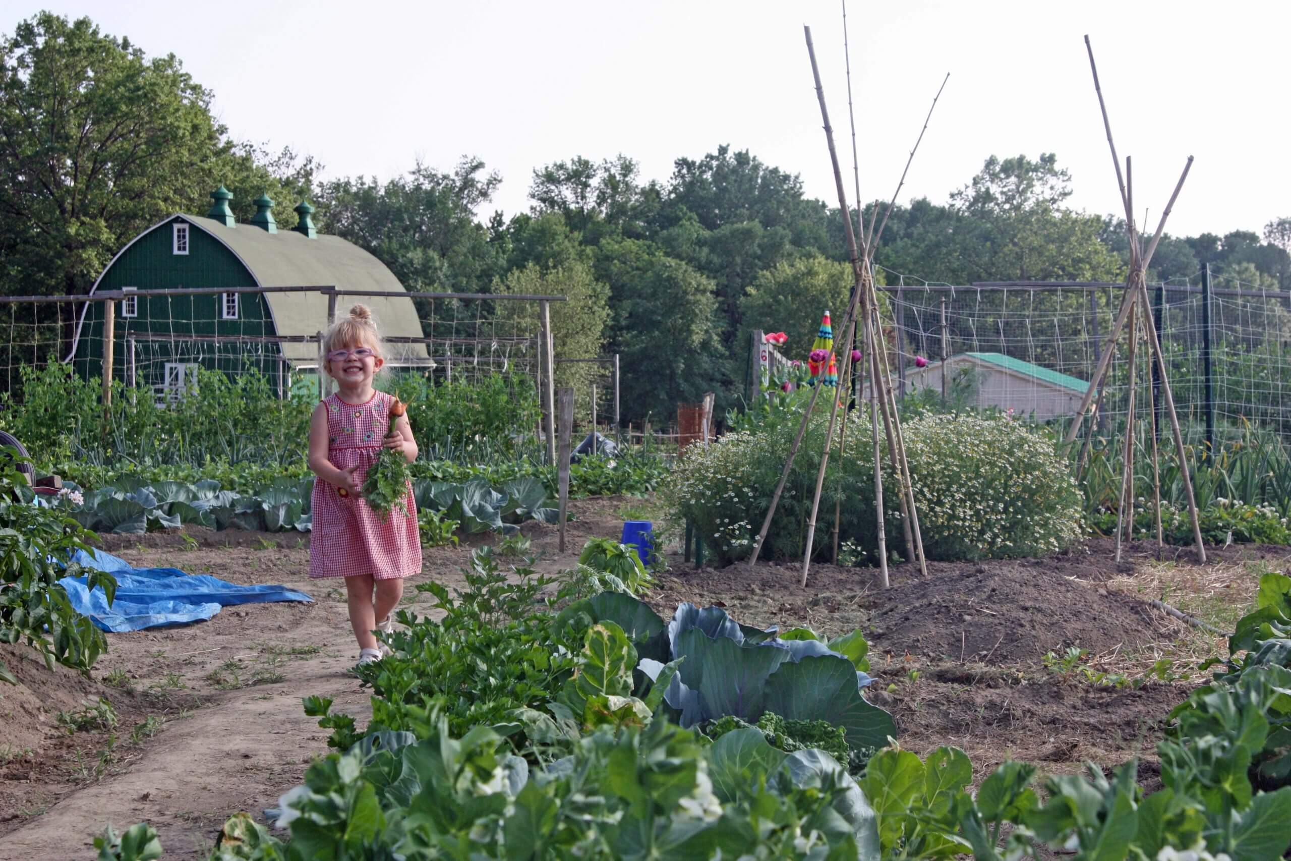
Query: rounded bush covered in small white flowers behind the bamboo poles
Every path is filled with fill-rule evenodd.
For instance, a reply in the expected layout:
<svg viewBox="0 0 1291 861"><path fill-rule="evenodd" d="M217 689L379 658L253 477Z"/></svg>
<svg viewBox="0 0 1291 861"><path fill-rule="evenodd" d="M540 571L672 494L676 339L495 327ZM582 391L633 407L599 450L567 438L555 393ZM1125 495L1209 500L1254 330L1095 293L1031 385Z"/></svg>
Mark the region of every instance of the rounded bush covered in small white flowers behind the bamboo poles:
<svg viewBox="0 0 1291 861"><path fill-rule="evenodd" d="M798 408L773 412L714 445L691 447L665 484L671 519L693 524L718 563L751 552L800 418ZM874 449L865 409L848 421L855 425L847 429L848 448L830 461L837 469L826 474L821 505L840 503L839 540L855 564L878 552L869 493ZM769 556L803 556L826 422L817 416L808 423L763 546ZM1033 556L1083 534L1079 491L1046 431L1006 417L924 414L905 426L905 440L930 559ZM886 452L882 457L884 485L897 487ZM887 494L884 505L892 550L904 546L897 494ZM817 529L815 541L820 552L829 531Z"/></svg>

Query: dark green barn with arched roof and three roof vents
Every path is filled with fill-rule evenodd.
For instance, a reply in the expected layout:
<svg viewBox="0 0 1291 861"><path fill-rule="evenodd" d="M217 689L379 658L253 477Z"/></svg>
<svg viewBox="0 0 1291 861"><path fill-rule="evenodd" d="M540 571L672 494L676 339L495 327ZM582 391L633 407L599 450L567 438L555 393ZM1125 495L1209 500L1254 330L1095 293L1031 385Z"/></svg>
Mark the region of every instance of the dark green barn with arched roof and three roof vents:
<svg viewBox="0 0 1291 861"><path fill-rule="evenodd" d="M352 302L372 309L391 363L430 364L417 310L399 279L376 257L338 236L319 234L309 203L298 222L279 230L274 201L262 195L257 213L236 223L221 186L207 216L176 213L123 248L98 276L97 290L186 290L207 288L329 287L403 294L337 297L337 314ZM352 298L352 302L351 302ZM328 297L319 292L200 292L139 296L117 301L114 377L151 389L159 399L183 394L204 367L238 374L256 368L283 395L312 380L318 391L316 334L328 327ZM98 376L103 356L103 302L88 302L76 321L67 361Z"/></svg>

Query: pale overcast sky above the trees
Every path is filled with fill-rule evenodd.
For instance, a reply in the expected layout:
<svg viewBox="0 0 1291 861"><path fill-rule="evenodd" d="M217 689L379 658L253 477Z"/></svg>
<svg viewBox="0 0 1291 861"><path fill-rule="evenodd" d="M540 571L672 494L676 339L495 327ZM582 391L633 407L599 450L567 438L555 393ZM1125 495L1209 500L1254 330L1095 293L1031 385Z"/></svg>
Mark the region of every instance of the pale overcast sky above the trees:
<svg viewBox="0 0 1291 861"><path fill-rule="evenodd" d="M720 143L837 204L806 23L851 170L837 0L0 0L0 30L41 5L176 53L235 137L311 154L327 177L385 179L416 159L449 169L478 155L501 172L493 203L507 214L528 208L537 165L622 152L643 178L666 179L675 157ZM1118 209L1088 34L1153 226L1188 155L1170 232L1261 231L1291 216L1288 3L852 0L848 13L862 196L892 194L950 72L902 201L944 201L991 154L1052 151L1078 208Z"/></svg>

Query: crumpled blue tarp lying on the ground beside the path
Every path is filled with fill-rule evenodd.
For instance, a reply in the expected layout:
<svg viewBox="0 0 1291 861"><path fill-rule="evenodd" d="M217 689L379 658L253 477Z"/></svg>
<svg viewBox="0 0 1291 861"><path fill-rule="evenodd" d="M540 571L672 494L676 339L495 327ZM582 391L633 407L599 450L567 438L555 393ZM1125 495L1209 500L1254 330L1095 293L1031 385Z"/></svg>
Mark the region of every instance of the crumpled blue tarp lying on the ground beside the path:
<svg viewBox="0 0 1291 861"><path fill-rule="evenodd" d="M105 631L138 631L204 621L230 604L266 602L311 602L285 586L239 586L210 574L187 574L178 568L132 568L128 562L102 550L77 550L72 562L106 571L116 577L116 599L107 605L102 589L86 589L84 577L63 577L77 613L89 616Z"/></svg>

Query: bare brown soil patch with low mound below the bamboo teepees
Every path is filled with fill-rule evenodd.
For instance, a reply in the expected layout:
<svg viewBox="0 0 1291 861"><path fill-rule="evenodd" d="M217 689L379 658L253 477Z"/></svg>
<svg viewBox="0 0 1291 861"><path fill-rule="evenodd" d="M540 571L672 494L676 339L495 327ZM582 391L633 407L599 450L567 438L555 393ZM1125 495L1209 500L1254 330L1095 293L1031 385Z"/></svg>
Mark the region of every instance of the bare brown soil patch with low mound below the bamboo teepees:
<svg viewBox="0 0 1291 861"><path fill-rule="evenodd" d="M1118 564L1112 542L1093 540L1043 559L930 563L927 577L902 564L891 567L887 590L868 568L813 564L803 587L800 564L678 563L648 600L665 617L692 602L746 625L829 636L860 629L877 678L869 697L893 714L901 745L963 747L979 780L1004 759L1072 772L1139 756L1150 775L1166 716L1206 680L1199 661L1226 654L1226 640L1146 602L1195 614L1216 604L1232 620L1250 607L1261 572L1291 572L1287 547L1207 549L1206 565L1190 551L1155 554L1135 542ZM1087 654L1065 670L1069 648ZM1158 678L1149 669L1162 658L1174 665Z"/></svg>

